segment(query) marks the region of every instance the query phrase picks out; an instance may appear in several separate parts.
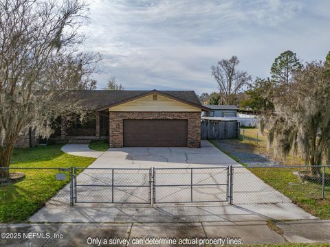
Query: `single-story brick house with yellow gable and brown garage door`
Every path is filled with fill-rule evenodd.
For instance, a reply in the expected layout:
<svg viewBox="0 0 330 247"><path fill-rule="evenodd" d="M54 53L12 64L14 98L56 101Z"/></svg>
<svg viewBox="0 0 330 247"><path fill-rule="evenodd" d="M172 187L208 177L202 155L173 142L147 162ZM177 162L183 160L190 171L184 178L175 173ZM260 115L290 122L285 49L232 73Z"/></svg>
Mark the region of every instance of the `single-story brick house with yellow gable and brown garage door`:
<svg viewBox="0 0 330 247"><path fill-rule="evenodd" d="M58 119L50 141L89 143L109 140L110 148L199 148L201 106L194 91L67 91L65 97L80 102L89 117ZM78 119L78 116L77 116Z"/></svg>

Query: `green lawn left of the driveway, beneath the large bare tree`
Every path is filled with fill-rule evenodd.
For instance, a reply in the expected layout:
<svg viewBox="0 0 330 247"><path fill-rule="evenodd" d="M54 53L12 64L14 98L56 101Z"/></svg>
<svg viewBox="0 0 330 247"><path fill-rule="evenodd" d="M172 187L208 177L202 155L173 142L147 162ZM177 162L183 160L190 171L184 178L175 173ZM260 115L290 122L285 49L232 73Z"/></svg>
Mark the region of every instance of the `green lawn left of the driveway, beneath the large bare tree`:
<svg viewBox="0 0 330 247"><path fill-rule="evenodd" d="M47 145L15 149L10 167L87 167L95 161L95 158L65 154L61 147L62 145ZM10 172L23 172L25 178L0 187L2 223L28 220L69 182L69 172L63 171L61 173L67 174L66 180L55 180L58 169L10 169Z"/></svg>

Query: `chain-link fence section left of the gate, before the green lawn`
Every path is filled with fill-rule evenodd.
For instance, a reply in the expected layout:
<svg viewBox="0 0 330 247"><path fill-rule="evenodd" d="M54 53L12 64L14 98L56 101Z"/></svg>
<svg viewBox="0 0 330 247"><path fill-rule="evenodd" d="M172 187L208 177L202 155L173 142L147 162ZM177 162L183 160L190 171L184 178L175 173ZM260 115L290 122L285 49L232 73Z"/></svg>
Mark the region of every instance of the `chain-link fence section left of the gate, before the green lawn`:
<svg viewBox="0 0 330 247"><path fill-rule="evenodd" d="M0 167L0 172L10 174L9 180L0 180L0 201L3 210L6 210L6 207L12 208L12 205L18 208L26 204L32 204L36 208L42 207L47 200L59 193L63 203L70 202L70 168Z"/></svg>

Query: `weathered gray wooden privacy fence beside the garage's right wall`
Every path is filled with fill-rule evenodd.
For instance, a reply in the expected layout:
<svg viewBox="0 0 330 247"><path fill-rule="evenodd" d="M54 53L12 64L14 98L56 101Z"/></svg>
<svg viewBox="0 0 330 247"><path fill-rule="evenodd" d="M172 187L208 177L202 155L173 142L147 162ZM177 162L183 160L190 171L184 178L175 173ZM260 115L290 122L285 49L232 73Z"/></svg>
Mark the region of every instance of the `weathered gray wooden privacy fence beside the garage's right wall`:
<svg viewBox="0 0 330 247"><path fill-rule="evenodd" d="M234 139L239 137L237 121L201 121L201 139Z"/></svg>

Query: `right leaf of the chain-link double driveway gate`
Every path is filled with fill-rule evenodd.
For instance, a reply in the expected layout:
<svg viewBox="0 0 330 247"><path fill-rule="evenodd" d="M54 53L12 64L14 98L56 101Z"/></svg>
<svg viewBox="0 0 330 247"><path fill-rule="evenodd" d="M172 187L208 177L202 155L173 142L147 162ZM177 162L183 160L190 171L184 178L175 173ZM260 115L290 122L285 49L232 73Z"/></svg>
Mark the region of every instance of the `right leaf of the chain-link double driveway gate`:
<svg viewBox="0 0 330 247"><path fill-rule="evenodd" d="M229 175L229 167L155 168L153 202L228 201Z"/></svg>

